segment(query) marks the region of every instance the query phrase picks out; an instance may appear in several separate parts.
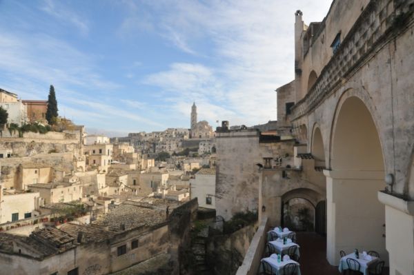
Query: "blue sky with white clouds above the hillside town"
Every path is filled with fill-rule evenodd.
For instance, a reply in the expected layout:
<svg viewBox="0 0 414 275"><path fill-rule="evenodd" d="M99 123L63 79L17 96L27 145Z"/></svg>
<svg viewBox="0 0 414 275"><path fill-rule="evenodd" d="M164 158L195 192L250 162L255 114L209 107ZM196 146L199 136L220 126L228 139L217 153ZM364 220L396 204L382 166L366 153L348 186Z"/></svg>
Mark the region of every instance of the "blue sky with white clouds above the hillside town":
<svg viewBox="0 0 414 275"><path fill-rule="evenodd" d="M294 79L295 11L331 0L0 0L0 88L47 100L91 134L277 119Z"/></svg>

